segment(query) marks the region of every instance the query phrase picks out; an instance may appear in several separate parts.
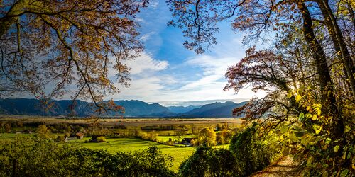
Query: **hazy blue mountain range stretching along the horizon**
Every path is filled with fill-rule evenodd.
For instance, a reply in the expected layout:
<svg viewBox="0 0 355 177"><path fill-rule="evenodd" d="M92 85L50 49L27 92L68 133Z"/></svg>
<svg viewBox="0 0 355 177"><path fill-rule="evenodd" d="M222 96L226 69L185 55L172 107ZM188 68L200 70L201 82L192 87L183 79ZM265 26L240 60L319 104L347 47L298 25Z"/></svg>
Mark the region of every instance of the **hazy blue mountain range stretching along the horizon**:
<svg viewBox="0 0 355 177"><path fill-rule="evenodd" d="M246 102L234 103L210 103L206 105L168 106L159 103L146 103L138 100L114 101L116 105L125 108L124 117L152 117L152 118L231 118L234 108L244 105ZM75 115L86 117L93 115L92 103L75 101L72 105L70 100L51 100L46 103L37 99L6 98L0 99L0 114L6 115ZM118 113L109 112L107 116L118 116Z"/></svg>

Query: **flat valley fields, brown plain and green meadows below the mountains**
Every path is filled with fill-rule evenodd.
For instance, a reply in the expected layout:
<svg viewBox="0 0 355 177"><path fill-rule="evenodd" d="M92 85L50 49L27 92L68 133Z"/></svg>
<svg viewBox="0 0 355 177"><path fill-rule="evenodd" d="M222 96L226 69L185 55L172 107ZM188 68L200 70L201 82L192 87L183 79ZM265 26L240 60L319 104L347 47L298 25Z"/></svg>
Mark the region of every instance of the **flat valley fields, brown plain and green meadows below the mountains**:
<svg viewBox="0 0 355 177"><path fill-rule="evenodd" d="M80 126L85 127L86 130L92 130L91 126L94 120L89 119L81 119L81 120L67 120L65 118L58 117L40 117L40 116L26 116L26 115L11 115L11 116L2 116L0 115L0 122L23 122L23 126L25 123L31 122L40 122L40 124L51 125L54 126L58 123L67 123L70 125L80 124ZM99 127L106 127L108 130L113 130L115 132L126 132L126 131L142 131L143 127L146 126L179 126L184 125L187 127L189 131L186 133L191 134L192 128L197 128L201 130L203 127L216 127L218 123L228 124L228 127L233 129L235 127L241 126L242 120L239 119L231 119L231 118L188 118L188 119L180 119L180 118L124 118L124 119L102 119L99 122ZM115 129L115 127L124 127L124 129ZM37 127L30 127L33 132L35 132ZM0 141L11 141L16 137L17 131L21 131L21 129L28 129L28 127L13 127L11 133L0 133ZM148 131L149 132L149 131ZM178 140L175 135L174 130L159 130L156 131L158 134L158 142L168 142L169 138L173 141ZM19 134L18 136L34 136L33 134ZM51 133L50 136L55 138L58 136L63 136L63 133ZM183 135L181 139L184 137L196 137L196 135ZM195 147L185 147L184 145L172 146L166 144L160 144L158 142L148 141L139 139L136 137L120 137L120 138L109 138L106 137L108 143L97 143L97 142L87 142L85 140L89 140L90 137L84 137L81 140L70 140L70 143L80 144L82 147L87 147L89 149L103 149L107 150L110 153L116 152L135 152L148 149L148 147L156 146L163 154L173 156L173 171L178 171L178 168L182 161L187 159L189 156L195 152ZM181 140L180 139L180 140ZM219 145L214 148L228 148L229 145Z"/></svg>

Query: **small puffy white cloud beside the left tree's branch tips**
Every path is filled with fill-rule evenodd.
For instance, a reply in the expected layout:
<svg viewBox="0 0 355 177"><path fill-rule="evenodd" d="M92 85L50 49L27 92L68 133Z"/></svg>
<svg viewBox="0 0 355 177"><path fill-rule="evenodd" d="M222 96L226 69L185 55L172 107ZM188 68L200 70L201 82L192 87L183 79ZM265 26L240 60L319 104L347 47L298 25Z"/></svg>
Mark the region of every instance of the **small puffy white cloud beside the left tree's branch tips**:
<svg viewBox="0 0 355 177"><path fill-rule="evenodd" d="M125 61L124 64L131 68L130 73L133 75L142 72L158 72L169 66L168 61L153 59L153 56L146 52L141 53L141 56L136 59Z"/></svg>

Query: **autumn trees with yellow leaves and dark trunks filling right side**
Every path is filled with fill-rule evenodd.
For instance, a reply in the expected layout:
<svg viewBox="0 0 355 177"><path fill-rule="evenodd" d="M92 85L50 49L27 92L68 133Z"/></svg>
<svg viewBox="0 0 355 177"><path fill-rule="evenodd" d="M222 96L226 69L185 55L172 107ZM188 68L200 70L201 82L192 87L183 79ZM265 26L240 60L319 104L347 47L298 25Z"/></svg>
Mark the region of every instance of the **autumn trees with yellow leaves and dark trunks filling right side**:
<svg viewBox="0 0 355 177"><path fill-rule="evenodd" d="M265 135L279 132L284 148L307 166L327 176L354 170L355 16L354 1L175 1L175 19L184 29L184 45L202 53L216 44L217 23L231 21L233 30L249 35L246 44L270 40L271 47L246 50L228 69L225 89L251 86L266 91L234 110L247 122L260 120ZM302 144L309 139L312 144ZM285 143L290 142L290 143ZM312 149L312 150L311 150ZM314 159L314 160L313 160ZM306 164L306 163L305 163Z"/></svg>

